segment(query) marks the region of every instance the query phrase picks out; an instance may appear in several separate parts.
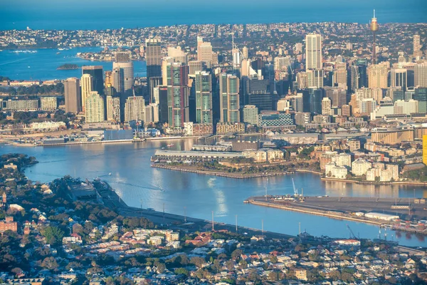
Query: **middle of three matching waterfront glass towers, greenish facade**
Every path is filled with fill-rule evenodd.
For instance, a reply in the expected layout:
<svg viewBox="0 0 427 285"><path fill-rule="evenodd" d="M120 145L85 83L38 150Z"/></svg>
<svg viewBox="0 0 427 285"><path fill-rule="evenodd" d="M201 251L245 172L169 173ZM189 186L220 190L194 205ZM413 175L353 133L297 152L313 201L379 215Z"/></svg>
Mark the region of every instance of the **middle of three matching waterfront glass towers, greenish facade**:
<svg viewBox="0 0 427 285"><path fill-rule="evenodd" d="M196 123L213 123L212 76L205 71L196 72Z"/></svg>

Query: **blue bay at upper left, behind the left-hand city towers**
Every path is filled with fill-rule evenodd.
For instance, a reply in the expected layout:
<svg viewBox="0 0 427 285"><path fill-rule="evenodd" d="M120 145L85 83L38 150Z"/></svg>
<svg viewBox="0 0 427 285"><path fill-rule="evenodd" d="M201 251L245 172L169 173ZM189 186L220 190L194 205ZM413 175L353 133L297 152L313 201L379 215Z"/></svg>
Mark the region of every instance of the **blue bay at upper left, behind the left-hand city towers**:
<svg viewBox="0 0 427 285"><path fill-rule="evenodd" d="M103 66L104 71L112 70L110 61L87 61L78 58L77 53L100 51L100 47L71 48L58 51L57 48L21 49L18 51L0 51L0 76L15 80L48 80L65 79L82 76L81 69L57 71L64 63L74 63L78 66ZM59 53L59 54L57 54ZM146 76L145 61L134 61L135 76Z"/></svg>

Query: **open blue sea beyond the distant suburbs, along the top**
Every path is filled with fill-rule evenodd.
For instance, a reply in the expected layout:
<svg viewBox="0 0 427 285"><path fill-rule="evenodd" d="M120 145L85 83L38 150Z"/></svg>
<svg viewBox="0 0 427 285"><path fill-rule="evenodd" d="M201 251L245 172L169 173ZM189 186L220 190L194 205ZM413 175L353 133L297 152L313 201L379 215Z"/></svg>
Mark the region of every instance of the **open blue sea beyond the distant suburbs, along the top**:
<svg viewBox="0 0 427 285"><path fill-rule="evenodd" d="M175 24L272 22L425 22L425 0L14 0L0 9L0 30L105 29Z"/></svg>

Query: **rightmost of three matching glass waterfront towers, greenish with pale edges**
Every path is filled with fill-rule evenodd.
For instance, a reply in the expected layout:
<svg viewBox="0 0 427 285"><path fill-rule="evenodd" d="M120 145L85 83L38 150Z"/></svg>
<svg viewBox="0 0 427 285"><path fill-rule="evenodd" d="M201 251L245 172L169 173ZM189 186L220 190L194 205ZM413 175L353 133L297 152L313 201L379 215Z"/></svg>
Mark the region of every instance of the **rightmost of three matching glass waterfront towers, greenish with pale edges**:
<svg viewBox="0 0 427 285"><path fill-rule="evenodd" d="M236 75L221 73L219 76L221 122L240 122L239 83Z"/></svg>

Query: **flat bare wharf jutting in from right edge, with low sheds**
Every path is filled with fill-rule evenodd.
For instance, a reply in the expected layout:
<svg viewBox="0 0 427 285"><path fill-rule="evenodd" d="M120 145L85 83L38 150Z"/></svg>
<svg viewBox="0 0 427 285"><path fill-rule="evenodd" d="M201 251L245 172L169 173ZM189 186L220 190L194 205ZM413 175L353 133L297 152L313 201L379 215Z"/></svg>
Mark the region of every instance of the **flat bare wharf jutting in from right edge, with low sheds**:
<svg viewBox="0 0 427 285"><path fill-rule="evenodd" d="M297 199L278 199L277 196L250 197L245 202L263 207L274 207L288 211L315 214L332 219L345 219L390 227L404 232L427 234L418 222L391 221L364 217L367 212L394 214L401 219L427 219L426 204L415 204L413 198L379 197L301 197ZM397 206L397 209L396 209Z"/></svg>

